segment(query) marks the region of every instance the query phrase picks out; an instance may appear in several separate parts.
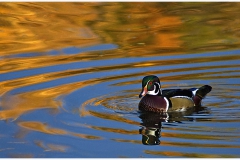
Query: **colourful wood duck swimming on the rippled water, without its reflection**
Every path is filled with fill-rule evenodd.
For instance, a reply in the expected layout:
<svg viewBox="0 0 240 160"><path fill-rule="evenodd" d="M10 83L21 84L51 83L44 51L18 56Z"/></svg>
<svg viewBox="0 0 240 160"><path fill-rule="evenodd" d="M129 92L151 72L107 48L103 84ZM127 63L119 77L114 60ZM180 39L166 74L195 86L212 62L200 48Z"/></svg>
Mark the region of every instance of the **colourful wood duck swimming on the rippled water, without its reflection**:
<svg viewBox="0 0 240 160"><path fill-rule="evenodd" d="M155 75L149 75L142 80L142 91L139 98L140 111L171 112L186 111L194 106L200 106L202 99L212 90L209 85L190 89L161 89L160 80Z"/></svg>

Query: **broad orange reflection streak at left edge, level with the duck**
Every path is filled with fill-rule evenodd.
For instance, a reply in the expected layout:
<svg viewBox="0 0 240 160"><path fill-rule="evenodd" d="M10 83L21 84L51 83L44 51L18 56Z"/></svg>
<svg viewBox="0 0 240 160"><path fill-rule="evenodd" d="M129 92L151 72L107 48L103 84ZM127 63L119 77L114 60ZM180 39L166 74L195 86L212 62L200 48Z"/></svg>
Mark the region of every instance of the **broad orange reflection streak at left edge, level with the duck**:
<svg viewBox="0 0 240 160"><path fill-rule="evenodd" d="M60 95L64 96L86 85L87 83L83 81L13 95L11 98L15 99L14 101L9 101L9 99L2 101L2 106L5 110L0 111L0 119L16 119L20 115L36 109L58 109L58 107L62 106L62 101L60 99L56 100L57 97Z"/></svg>

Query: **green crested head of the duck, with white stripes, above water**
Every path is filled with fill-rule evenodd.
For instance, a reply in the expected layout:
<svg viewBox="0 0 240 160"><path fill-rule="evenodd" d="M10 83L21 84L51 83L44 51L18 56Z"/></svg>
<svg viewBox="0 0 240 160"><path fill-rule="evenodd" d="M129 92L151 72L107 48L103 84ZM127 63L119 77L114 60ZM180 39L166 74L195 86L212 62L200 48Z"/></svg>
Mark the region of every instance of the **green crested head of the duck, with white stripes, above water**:
<svg viewBox="0 0 240 160"><path fill-rule="evenodd" d="M145 76L142 79L142 91L139 94L139 98L141 98L142 96L145 96L146 94L149 94L149 95L162 94L160 80L157 76L149 75L149 76Z"/></svg>

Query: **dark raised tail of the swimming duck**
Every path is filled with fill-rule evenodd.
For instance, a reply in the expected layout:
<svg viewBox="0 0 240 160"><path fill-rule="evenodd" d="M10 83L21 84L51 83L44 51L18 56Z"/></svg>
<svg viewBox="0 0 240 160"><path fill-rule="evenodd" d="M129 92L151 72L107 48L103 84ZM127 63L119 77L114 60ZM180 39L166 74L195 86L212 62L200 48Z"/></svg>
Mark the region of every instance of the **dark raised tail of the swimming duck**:
<svg viewBox="0 0 240 160"><path fill-rule="evenodd" d="M212 90L212 87L209 85L204 85L196 91L195 96L193 97L195 105L200 105L201 100Z"/></svg>

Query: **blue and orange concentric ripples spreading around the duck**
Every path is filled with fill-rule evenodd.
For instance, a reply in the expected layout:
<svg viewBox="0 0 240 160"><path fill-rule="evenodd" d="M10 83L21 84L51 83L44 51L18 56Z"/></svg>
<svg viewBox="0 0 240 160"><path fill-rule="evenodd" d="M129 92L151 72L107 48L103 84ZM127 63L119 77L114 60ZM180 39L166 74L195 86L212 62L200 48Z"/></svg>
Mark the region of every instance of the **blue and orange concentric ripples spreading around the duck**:
<svg viewBox="0 0 240 160"><path fill-rule="evenodd" d="M1 81L0 117L16 121L21 130L52 135L53 139L64 136L67 140L73 136L103 143L109 139L113 144L145 143L141 134L152 133L148 130L150 127L159 130L161 136L157 144L165 149L161 152L157 148L147 149L144 151L147 155L164 156L171 152L178 156L180 151L176 149L183 147L196 157L228 157L229 152L222 150L231 148L231 156L236 157L240 148L239 129L236 128L240 122L238 52L122 58L114 64L105 57L95 60L95 67L78 62L84 68L77 69L74 68L76 63L70 62L62 69L56 68L58 71L52 66L45 67L49 72L43 74L36 74L37 70L18 70L13 72L14 79L6 76ZM186 61L191 63L186 64ZM203 100L203 108L191 114L146 119L138 112L138 94L141 79L147 74L159 76L163 89L209 84L213 90ZM23 137L28 138L27 135ZM47 143L44 141L35 144ZM49 143L50 146L59 145L53 150L60 152L71 152L73 147L71 142L55 144L50 140ZM202 151L194 149L196 144ZM7 146L11 148L11 145ZM211 152L209 148L212 148ZM190 156L188 153L182 156Z"/></svg>

